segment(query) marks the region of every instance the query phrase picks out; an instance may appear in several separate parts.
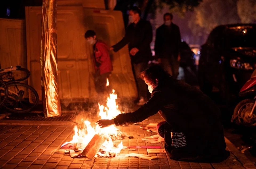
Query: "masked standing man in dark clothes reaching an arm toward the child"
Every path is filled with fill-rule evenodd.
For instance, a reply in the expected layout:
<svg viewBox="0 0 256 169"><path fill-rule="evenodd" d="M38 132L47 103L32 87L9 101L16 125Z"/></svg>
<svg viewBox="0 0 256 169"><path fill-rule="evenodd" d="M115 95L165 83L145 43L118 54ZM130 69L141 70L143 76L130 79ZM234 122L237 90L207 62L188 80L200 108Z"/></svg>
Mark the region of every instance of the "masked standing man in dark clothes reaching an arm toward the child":
<svg viewBox="0 0 256 169"><path fill-rule="evenodd" d="M146 69L147 63L152 58L150 43L153 35L151 24L142 20L140 13L138 7L131 7L129 11L129 22L131 24L126 29L125 37L110 49L117 52L128 44L138 90L138 99L136 101L138 105L143 105L147 99L147 86L139 78L139 74Z"/></svg>

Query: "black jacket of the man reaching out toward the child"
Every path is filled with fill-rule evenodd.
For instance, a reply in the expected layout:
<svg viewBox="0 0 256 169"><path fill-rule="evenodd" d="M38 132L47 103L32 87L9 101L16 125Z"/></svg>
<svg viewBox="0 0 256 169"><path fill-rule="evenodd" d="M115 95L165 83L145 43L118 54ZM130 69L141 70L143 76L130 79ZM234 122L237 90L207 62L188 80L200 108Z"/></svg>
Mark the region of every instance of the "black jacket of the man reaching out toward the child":
<svg viewBox="0 0 256 169"><path fill-rule="evenodd" d="M138 48L139 52L135 56L130 55L131 61L133 63L148 62L152 59L150 49L152 36L151 24L146 20L140 19L136 25L134 23L130 24L126 28L125 37L112 47L115 52L123 48L126 44L128 44L129 51L132 48Z"/></svg>

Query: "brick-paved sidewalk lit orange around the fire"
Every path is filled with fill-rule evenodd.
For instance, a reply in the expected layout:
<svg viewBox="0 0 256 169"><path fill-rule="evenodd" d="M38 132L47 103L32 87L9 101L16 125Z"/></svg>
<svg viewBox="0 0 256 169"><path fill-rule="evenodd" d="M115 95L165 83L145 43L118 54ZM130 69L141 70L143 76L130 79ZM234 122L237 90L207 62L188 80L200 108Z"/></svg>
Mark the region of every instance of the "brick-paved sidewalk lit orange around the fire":
<svg viewBox="0 0 256 169"><path fill-rule="evenodd" d="M157 114L143 121L144 125L160 122L161 117ZM188 168L256 168L248 158L226 139L227 149L230 150L230 157L221 163L191 163L171 160L165 153L148 154L156 155L159 158L145 160L136 157L127 157L125 154L139 153L147 154L147 149L123 149L119 156L114 158L71 158L69 154L62 152L53 153L66 141L72 140L73 126L58 126L58 122L48 124L47 121L38 121L33 125L15 122L16 125L6 125L0 120L0 166L2 168L143 168L143 169L188 169ZM19 124L19 125L17 125ZM44 125L42 125L44 124ZM60 123L63 124L63 123ZM118 127L133 139L125 138L124 146L161 146L164 143L148 143L141 138L155 133L142 130L138 125ZM120 140L114 141L120 143Z"/></svg>

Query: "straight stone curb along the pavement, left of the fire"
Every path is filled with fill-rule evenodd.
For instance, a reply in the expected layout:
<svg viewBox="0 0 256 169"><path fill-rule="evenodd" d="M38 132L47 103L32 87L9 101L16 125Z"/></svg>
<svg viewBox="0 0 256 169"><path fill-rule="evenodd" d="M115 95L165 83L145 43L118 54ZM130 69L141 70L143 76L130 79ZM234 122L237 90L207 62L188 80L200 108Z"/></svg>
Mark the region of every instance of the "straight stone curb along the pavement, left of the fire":
<svg viewBox="0 0 256 169"><path fill-rule="evenodd" d="M75 126L72 121L0 120L0 125Z"/></svg>

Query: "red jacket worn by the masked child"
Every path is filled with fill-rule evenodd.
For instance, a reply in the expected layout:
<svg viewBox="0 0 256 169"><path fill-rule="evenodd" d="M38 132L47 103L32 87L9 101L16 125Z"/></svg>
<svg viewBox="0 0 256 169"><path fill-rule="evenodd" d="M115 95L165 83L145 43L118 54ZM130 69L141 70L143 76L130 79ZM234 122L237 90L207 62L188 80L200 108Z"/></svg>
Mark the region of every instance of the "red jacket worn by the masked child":
<svg viewBox="0 0 256 169"><path fill-rule="evenodd" d="M109 47L102 41L97 40L93 45L95 71L99 69L100 74L110 73L113 65L109 56Z"/></svg>

